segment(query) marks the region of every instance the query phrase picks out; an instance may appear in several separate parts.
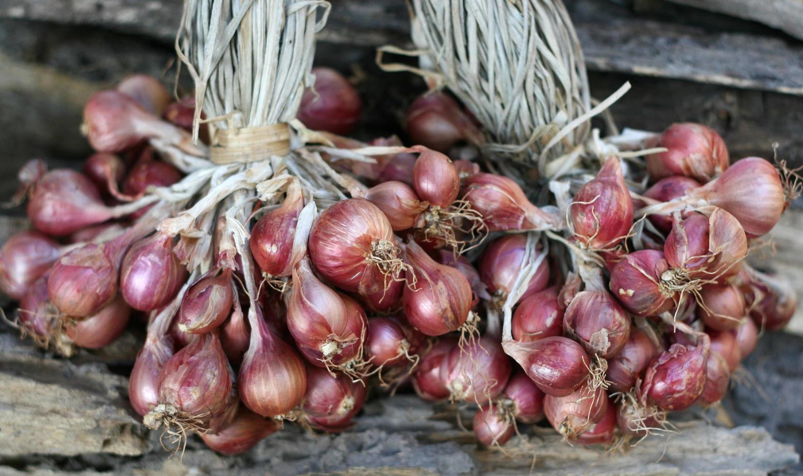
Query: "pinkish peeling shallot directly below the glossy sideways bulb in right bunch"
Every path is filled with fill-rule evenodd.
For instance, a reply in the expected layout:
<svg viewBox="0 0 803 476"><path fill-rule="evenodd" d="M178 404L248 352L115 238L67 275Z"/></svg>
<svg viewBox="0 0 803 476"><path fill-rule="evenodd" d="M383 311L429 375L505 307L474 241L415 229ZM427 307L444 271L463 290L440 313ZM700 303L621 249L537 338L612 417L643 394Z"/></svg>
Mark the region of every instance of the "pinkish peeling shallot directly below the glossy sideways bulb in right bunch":
<svg viewBox="0 0 803 476"><path fill-rule="evenodd" d="M544 413L552 428L573 440L605 417L607 404L605 389L592 389L589 384L584 384L565 397L544 397Z"/></svg>

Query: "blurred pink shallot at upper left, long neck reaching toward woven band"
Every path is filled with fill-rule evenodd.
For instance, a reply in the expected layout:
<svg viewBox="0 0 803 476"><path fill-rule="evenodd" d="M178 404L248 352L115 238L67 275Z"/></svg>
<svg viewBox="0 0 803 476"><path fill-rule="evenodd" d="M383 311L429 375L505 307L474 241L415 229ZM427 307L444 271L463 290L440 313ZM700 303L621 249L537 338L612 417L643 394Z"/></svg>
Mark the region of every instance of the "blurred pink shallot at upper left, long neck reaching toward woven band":
<svg viewBox="0 0 803 476"><path fill-rule="evenodd" d="M118 91L96 92L84 106L84 132L98 152L117 153L146 139L158 139L200 153L187 132L153 116Z"/></svg>

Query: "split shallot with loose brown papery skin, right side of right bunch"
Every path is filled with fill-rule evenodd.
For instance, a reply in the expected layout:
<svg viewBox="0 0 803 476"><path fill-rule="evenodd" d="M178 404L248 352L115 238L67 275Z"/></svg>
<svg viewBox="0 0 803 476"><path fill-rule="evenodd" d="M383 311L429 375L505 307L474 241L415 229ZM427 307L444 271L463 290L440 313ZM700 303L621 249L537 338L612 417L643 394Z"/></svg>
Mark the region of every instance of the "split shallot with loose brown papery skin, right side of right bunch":
<svg viewBox="0 0 803 476"><path fill-rule="evenodd" d="M748 241L732 214L714 208L708 217L689 214L676 222L663 251L666 262L681 278L724 279L740 271Z"/></svg>

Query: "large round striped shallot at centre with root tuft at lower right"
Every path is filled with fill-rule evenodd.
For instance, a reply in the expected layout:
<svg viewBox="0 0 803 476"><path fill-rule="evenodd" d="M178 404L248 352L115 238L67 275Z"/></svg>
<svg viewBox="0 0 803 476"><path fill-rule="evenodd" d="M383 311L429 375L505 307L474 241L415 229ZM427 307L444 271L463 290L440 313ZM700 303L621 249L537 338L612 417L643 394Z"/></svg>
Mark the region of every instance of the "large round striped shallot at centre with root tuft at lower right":
<svg viewBox="0 0 803 476"><path fill-rule="evenodd" d="M308 248L320 274L344 291L372 294L390 280L403 279L388 218L362 198L338 201L318 215Z"/></svg>

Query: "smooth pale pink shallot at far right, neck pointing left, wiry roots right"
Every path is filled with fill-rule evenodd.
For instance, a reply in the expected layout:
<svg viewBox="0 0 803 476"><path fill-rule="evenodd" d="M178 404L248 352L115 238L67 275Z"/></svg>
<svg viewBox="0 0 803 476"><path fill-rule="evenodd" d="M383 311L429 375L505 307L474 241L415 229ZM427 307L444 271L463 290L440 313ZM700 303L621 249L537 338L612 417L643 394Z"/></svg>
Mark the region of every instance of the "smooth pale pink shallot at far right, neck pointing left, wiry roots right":
<svg viewBox="0 0 803 476"><path fill-rule="evenodd" d="M767 234L786 208L777 169L760 157L736 161L715 180L691 189L686 199L715 205L736 217L748 238Z"/></svg>

